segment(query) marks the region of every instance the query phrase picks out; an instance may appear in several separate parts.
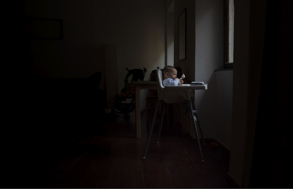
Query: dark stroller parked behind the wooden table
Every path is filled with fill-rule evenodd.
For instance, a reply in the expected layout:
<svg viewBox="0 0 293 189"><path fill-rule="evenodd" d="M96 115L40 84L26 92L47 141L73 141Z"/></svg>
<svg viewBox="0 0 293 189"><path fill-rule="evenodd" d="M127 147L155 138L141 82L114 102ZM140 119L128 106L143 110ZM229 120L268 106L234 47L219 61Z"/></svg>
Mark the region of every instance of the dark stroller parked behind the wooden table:
<svg viewBox="0 0 293 189"><path fill-rule="evenodd" d="M118 110L116 112L118 113L123 113L124 114L124 119L129 120L130 115L129 113L134 111L135 109L135 87L132 81L143 81L144 80L144 75L147 72L146 68L142 69L132 69L129 70L126 68L128 71L125 79L124 79L124 88L121 90L120 93L116 94L116 101L113 110ZM128 78L132 75L131 82L128 82Z"/></svg>

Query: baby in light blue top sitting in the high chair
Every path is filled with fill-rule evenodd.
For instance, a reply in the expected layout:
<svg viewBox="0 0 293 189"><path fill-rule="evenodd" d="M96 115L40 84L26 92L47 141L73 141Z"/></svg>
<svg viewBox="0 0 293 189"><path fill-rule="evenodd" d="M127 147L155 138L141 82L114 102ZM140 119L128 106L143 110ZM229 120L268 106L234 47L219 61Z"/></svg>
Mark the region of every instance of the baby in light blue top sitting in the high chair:
<svg viewBox="0 0 293 189"><path fill-rule="evenodd" d="M183 78L185 78L185 75L183 73L183 75L181 76L180 79L177 78L177 70L175 67L173 66L165 66L165 68L163 69L163 86L177 86L177 85L182 85L183 84ZM189 109L189 104L188 104L188 100L184 101L184 107L185 107L185 111L187 114L187 117L191 119L191 115L190 115L190 109ZM196 110L192 111L193 114L196 113ZM194 120L197 121L197 118L193 115Z"/></svg>

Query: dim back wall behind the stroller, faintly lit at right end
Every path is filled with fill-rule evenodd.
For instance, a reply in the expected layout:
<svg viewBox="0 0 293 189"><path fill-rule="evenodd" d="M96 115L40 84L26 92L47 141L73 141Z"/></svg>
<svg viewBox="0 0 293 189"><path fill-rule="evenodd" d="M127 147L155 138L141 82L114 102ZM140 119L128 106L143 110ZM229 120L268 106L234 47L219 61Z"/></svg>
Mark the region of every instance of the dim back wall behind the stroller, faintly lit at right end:
<svg viewBox="0 0 293 189"><path fill-rule="evenodd" d="M116 44L118 91L128 69L145 67L145 80L165 65L164 0L24 0L25 16L63 20L63 40L30 41L30 74L47 78L87 78L101 71L101 47ZM142 91L145 109L147 91ZM144 103L143 103L144 102Z"/></svg>

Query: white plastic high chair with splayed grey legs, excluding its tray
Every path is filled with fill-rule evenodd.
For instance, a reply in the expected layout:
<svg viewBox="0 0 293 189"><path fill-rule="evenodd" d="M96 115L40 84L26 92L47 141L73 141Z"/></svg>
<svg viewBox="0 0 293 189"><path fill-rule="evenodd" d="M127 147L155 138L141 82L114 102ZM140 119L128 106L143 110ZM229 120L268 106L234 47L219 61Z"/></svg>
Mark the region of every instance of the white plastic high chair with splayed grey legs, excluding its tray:
<svg viewBox="0 0 293 189"><path fill-rule="evenodd" d="M194 105L194 110L196 110L195 101L194 101L194 97L193 97L193 92L191 90L182 90L183 87L180 87L180 86L166 86L166 87L163 87L162 77L163 77L162 71L160 69L158 69L156 71L158 101L157 101L157 104L156 104L156 109L155 109L154 117L153 117L152 124L151 124L151 131L149 133L149 138L148 138L148 141L147 141L147 145L145 147L143 159L145 159L146 155L147 155L147 149L149 147L149 142L151 140L151 134L152 134L152 131L153 131L153 128L154 128L154 123L155 123L155 120L156 120L156 116L157 116L157 113L158 113L159 104L160 104L161 100L163 100L164 104L163 104L163 109L162 109L162 114L161 114L160 127L159 127L159 136L157 138L157 143L159 143L159 139L160 139L161 128L162 128L162 124L163 124L163 117L164 117L164 113L165 113L165 109L166 109L166 103L167 104L182 103L185 100L188 100L190 114L193 115L193 112L192 112L193 108L192 108L191 102ZM201 137L202 137L202 143L203 143L203 145L205 145L205 140L204 140L204 137L202 135L202 130L201 130L201 127L200 127L200 124L199 124L199 118L198 118L197 111L196 111L196 116L197 116L197 123L198 123L199 129L200 129L200 134L201 134ZM202 156L202 149L201 149L200 140L199 140L198 133L197 133L197 127L196 127L195 119L194 119L194 116L191 116L191 117L192 117L192 120L193 120L193 126L194 126L194 130L195 130L198 146L199 146L199 149L200 149L201 162L203 163L204 159L203 159L203 156Z"/></svg>

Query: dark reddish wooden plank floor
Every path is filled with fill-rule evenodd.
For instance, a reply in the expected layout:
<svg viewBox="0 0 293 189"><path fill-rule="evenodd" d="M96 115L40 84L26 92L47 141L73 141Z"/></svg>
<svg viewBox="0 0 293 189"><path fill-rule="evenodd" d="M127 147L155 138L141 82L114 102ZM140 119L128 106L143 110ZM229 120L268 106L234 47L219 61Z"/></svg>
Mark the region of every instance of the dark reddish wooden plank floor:
<svg viewBox="0 0 293 189"><path fill-rule="evenodd" d="M134 112L128 121L117 115L105 117L88 135L60 135L42 149L16 153L15 161L25 165L12 166L7 174L15 179L5 188L235 188L225 178L229 152L211 147L211 139L202 145L205 162L200 163L197 141L182 136L179 126L163 125L157 144L157 120L143 160L150 128L145 115L141 139L136 139Z"/></svg>

